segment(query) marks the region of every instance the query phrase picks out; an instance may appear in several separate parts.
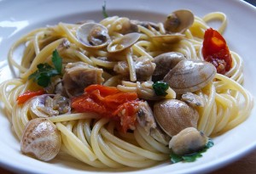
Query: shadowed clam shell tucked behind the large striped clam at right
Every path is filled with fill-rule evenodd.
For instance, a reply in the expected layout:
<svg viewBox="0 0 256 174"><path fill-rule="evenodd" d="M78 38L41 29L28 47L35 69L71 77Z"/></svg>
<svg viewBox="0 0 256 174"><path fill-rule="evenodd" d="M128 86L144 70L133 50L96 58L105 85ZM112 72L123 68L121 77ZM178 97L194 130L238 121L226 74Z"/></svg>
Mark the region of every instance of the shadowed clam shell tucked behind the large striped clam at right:
<svg viewBox="0 0 256 174"><path fill-rule="evenodd" d="M174 68L178 62L185 59L183 53L169 52L162 53L154 57L155 69L153 78L155 81L161 81L164 79L166 74Z"/></svg>

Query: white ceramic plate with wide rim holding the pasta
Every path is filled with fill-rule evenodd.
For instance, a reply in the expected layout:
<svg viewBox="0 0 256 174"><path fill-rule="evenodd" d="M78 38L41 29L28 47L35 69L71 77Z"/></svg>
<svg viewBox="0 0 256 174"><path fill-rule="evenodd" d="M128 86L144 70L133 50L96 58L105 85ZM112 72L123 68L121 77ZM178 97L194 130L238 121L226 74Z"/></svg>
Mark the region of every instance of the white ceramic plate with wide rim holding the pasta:
<svg viewBox="0 0 256 174"><path fill-rule="evenodd" d="M80 20L102 20L103 1L6 1L0 0L0 81L11 78L7 66L7 53L13 42L32 29L58 22L78 22ZM178 9L189 8L202 17L207 13L220 11L228 16L228 26L224 37L230 50L236 51L244 59L245 87L256 96L255 40L256 8L230 0L166 0L166 1L107 1L108 14L127 16L137 20L160 21L166 14ZM253 90L254 88L254 90ZM251 116L230 132L214 138L215 145L203 158L193 163L165 163L131 173L199 173L215 170L242 155L256 145L256 110ZM20 154L20 143L15 138L9 121L0 113L0 165L9 170L29 173L104 173L85 167L82 163L56 159L50 163L41 162Z"/></svg>

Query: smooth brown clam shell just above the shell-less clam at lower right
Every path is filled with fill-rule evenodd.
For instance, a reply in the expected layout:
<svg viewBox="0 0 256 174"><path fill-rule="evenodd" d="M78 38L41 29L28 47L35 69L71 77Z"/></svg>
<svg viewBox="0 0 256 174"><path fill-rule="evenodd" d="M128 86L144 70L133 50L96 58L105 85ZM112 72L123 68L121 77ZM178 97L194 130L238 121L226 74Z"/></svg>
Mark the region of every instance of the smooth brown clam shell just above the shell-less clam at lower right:
<svg viewBox="0 0 256 174"><path fill-rule="evenodd" d="M199 115L183 101L168 99L154 104L154 118L162 130L173 137L186 127L196 127Z"/></svg>

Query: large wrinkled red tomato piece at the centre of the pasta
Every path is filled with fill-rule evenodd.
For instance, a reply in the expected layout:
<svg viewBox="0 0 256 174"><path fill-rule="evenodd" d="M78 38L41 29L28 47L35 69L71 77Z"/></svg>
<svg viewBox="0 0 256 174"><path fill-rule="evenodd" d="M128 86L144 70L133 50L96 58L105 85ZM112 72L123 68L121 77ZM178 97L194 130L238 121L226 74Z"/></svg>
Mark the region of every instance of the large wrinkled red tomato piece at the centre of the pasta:
<svg viewBox="0 0 256 174"><path fill-rule="evenodd" d="M124 93L116 87L90 85L84 94L72 99L72 107L78 112L93 112L102 117L119 121L122 132L135 126L137 120L137 93Z"/></svg>

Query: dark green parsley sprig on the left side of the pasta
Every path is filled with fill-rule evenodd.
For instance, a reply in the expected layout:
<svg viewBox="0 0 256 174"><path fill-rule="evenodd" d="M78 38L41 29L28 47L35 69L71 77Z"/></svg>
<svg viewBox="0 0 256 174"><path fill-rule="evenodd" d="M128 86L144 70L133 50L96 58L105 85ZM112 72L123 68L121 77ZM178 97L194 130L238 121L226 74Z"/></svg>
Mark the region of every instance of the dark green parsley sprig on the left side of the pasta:
<svg viewBox="0 0 256 174"><path fill-rule="evenodd" d="M61 75L62 71L62 59L58 51L52 53L51 61L55 67L50 66L47 63L39 64L38 70L32 73L32 75L28 76L28 79L33 79L33 81L37 81L38 85L41 87L48 87L50 83L50 78L53 76Z"/></svg>

